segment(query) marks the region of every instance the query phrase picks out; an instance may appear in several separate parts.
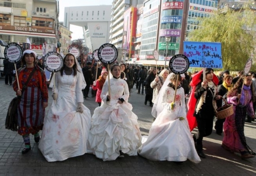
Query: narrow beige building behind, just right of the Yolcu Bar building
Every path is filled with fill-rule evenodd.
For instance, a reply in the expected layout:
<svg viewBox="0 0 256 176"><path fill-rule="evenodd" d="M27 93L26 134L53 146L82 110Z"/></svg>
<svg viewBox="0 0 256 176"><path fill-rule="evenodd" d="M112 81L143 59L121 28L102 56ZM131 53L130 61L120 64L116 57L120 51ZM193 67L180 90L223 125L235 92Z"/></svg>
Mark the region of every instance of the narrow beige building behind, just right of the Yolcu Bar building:
<svg viewBox="0 0 256 176"><path fill-rule="evenodd" d="M61 52L66 55L68 54L68 47L71 44L72 32L68 30L68 27L63 25L63 22L59 23L59 42L61 44Z"/></svg>

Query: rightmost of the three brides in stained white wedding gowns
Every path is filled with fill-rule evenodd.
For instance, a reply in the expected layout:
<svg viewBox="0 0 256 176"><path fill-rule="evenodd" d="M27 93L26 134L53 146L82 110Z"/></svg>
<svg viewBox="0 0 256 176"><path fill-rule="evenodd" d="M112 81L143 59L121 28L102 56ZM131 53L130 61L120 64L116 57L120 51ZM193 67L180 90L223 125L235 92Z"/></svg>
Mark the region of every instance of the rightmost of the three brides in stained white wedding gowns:
<svg viewBox="0 0 256 176"><path fill-rule="evenodd" d="M179 76L175 103L173 98L175 84ZM186 119L184 90L180 85L181 76L171 73L166 78L160 90L156 107L161 108L149 131L149 136L143 136L143 145L139 155L155 161L183 162L187 159L200 162L196 153L195 143L188 128Z"/></svg>

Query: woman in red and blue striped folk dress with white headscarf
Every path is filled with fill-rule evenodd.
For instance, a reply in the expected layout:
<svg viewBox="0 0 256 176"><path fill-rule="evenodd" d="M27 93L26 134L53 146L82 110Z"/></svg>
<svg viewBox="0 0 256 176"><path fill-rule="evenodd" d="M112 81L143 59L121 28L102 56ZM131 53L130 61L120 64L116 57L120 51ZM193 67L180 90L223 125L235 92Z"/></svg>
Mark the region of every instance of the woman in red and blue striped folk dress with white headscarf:
<svg viewBox="0 0 256 176"><path fill-rule="evenodd" d="M39 142L38 132L43 128L45 108L48 106L45 73L35 64L36 57L33 50L23 52L22 67L17 70L20 89L17 79L13 83L13 90L21 96L18 106L18 133L23 136L25 143L23 154L31 150L30 133L34 135L35 142Z"/></svg>

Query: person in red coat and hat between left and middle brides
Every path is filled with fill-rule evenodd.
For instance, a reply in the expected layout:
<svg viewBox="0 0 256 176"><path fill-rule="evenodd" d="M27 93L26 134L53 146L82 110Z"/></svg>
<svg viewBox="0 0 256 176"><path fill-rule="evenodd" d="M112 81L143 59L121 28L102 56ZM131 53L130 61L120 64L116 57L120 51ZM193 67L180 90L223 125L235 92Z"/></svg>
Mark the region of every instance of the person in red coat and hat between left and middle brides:
<svg viewBox="0 0 256 176"><path fill-rule="evenodd" d="M102 94L102 87L106 81L106 78L108 76L108 71L106 68L102 68L101 75L99 76L99 79L97 81L93 82L92 89L97 90L96 94L96 102L98 102L99 106L102 105L102 99L101 99L101 94Z"/></svg>

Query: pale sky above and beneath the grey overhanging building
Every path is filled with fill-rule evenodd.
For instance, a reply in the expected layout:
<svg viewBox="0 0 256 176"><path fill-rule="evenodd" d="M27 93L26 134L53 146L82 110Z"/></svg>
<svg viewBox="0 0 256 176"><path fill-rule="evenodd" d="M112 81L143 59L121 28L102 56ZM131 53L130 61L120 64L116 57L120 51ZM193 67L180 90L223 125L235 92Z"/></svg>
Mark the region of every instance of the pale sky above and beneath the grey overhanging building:
<svg viewBox="0 0 256 176"><path fill-rule="evenodd" d="M113 0L59 0L59 2L60 2L59 22L64 22L65 7L112 5ZM83 38L82 27L71 25L70 30L73 32L71 40Z"/></svg>

